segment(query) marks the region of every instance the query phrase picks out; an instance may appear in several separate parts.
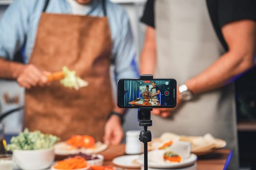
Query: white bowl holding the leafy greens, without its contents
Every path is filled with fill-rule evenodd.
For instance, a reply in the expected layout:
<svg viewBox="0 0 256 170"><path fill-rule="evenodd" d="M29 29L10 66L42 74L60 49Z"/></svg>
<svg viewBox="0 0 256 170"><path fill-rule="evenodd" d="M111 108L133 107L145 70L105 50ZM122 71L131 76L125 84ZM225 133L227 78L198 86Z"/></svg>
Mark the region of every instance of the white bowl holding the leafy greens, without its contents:
<svg viewBox="0 0 256 170"><path fill-rule="evenodd" d="M14 150L13 160L22 170L43 170L54 162L54 149Z"/></svg>

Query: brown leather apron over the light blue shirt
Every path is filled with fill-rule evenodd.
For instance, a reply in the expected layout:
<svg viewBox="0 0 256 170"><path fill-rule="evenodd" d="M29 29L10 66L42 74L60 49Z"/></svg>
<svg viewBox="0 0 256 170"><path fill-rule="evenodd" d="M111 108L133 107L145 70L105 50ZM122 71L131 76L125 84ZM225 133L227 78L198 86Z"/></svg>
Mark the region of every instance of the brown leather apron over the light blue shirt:
<svg viewBox="0 0 256 170"><path fill-rule="evenodd" d="M101 140L113 107L107 17L42 13L30 64L47 71L76 70L89 85L79 90L53 82L25 92L25 127L57 135ZM100 96L100 97L99 97Z"/></svg>

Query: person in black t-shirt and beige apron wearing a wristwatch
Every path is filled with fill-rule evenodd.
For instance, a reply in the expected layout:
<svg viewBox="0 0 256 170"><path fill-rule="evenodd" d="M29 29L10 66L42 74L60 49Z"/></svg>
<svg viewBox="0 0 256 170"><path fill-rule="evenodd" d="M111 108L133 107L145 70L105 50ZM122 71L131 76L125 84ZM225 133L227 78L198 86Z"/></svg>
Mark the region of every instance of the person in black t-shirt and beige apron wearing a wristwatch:
<svg viewBox="0 0 256 170"><path fill-rule="evenodd" d="M232 82L237 75L254 66L256 15L254 8L249 8L250 12L246 9L255 7L252 1L229 2L207 0L207 5L205 0L149 0L141 19L149 26L140 73L175 78L179 84L177 106L153 110L152 113L158 116L152 116L152 135L172 132L202 136L211 133L227 141L227 147L233 149L229 168L237 170L236 105ZM155 7L150 7L154 3ZM237 12L235 16L234 11Z"/></svg>

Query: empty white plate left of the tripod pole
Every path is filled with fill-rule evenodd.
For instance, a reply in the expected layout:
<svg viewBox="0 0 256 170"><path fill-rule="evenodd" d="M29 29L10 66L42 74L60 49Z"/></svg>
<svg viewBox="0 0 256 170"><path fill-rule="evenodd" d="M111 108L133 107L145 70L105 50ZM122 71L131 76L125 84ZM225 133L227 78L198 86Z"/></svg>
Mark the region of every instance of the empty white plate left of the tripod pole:
<svg viewBox="0 0 256 170"><path fill-rule="evenodd" d="M138 160L140 157L140 154L136 155L124 155L124 156L118 156L113 159L113 164L121 166L121 167L126 167L126 168L140 168L141 165L134 163L134 161Z"/></svg>

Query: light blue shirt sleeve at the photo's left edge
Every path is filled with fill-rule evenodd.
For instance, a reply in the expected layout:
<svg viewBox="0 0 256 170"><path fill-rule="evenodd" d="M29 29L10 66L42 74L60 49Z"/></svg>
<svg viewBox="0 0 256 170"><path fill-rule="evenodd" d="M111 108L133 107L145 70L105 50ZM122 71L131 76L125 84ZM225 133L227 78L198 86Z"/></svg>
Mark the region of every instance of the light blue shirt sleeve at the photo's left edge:
<svg viewBox="0 0 256 170"><path fill-rule="evenodd" d="M25 42L29 10L27 1L14 0L0 18L0 57L13 60Z"/></svg>

